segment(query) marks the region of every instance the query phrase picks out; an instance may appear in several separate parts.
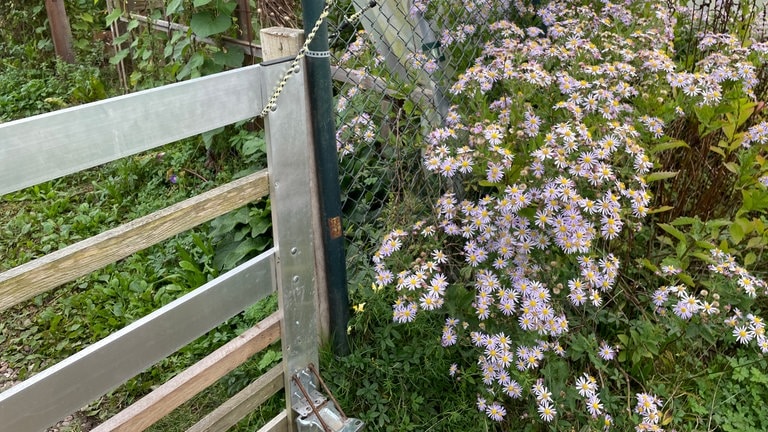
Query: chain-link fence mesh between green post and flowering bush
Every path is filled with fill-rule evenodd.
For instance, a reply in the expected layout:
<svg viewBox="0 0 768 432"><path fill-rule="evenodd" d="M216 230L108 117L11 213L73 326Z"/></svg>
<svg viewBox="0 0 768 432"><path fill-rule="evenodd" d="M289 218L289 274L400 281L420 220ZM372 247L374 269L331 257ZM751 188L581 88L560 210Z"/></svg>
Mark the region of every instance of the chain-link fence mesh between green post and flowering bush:
<svg viewBox="0 0 768 432"><path fill-rule="evenodd" d="M451 87L481 55L483 24L536 25L520 1L341 0L330 17L337 145L352 289L383 231L460 192L423 167L429 134L451 112ZM492 82L494 77L489 77Z"/></svg>

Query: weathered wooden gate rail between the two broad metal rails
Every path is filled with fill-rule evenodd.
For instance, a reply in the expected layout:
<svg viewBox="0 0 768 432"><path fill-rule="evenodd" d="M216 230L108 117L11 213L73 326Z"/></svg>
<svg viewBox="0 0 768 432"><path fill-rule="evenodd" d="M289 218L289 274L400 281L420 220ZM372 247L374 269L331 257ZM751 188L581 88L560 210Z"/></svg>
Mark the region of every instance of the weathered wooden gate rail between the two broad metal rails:
<svg viewBox="0 0 768 432"><path fill-rule="evenodd" d="M269 192L259 171L0 274L0 310L98 270Z"/></svg>

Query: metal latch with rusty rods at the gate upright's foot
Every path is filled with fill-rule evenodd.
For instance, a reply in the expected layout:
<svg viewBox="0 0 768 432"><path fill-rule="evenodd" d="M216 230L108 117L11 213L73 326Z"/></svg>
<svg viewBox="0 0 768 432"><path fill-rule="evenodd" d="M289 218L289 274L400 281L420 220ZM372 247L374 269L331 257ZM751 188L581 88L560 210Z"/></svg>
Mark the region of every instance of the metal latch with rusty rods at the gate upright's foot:
<svg viewBox="0 0 768 432"><path fill-rule="evenodd" d="M310 363L291 380L291 405L298 414L298 432L358 432L365 427L362 420L344 415L313 364ZM321 389L318 389L318 384Z"/></svg>

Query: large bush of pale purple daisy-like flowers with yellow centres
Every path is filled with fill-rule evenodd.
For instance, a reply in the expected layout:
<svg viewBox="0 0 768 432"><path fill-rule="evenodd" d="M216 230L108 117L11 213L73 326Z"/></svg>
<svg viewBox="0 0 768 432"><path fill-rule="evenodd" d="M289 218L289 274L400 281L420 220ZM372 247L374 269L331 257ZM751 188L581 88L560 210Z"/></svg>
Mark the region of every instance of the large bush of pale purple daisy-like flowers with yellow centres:
<svg viewBox="0 0 768 432"><path fill-rule="evenodd" d="M489 21L488 6L463 3L473 20L443 37L448 51L476 31L489 38L425 140L425 168L453 187L431 218L384 237L375 285L397 293L396 322L439 313L442 345L476 350L474 364L448 373L480 377L477 408L493 420L514 412L558 429L637 430L682 421L671 377L693 379L686 367L734 340L766 352L751 310L766 284L728 252L723 224L687 218L652 231L647 222L668 208L649 185L675 175L654 171L654 158L687 145L665 135L680 118L721 134L724 158L759 152L750 146L768 127L751 100L768 45L702 34L703 59L687 71L666 3L551 2L528 28ZM340 137L372 140L369 122L356 117ZM763 191L758 177L750 187Z"/></svg>

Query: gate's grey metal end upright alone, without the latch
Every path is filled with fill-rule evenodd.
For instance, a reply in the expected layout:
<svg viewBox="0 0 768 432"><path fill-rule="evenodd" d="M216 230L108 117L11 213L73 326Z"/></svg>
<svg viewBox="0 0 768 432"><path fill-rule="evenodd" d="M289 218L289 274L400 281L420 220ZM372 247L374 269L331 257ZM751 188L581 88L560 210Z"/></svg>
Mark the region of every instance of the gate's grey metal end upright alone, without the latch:
<svg viewBox="0 0 768 432"><path fill-rule="evenodd" d="M287 62L264 64L262 94L268 100ZM319 335L312 234L309 108L304 67L287 81L274 111L264 119L269 165L272 231L277 255L280 333L285 365L289 430L294 430L291 377L318 364Z"/></svg>

